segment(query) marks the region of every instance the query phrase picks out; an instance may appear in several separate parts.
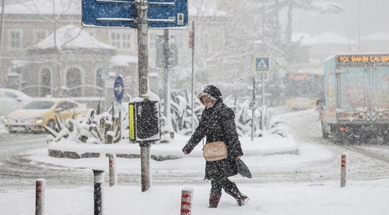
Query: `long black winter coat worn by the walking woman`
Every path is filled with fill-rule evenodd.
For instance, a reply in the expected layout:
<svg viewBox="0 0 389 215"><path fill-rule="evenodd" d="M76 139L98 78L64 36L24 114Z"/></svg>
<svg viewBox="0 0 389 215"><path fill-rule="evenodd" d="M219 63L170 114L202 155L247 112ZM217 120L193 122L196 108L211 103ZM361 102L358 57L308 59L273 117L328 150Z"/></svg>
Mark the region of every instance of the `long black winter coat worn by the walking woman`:
<svg viewBox="0 0 389 215"><path fill-rule="evenodd" d="M182 149L190 153L206 136L206 143L224 141L227 145L228 157L220 161L206 161L205 179L222 179L237 175L236 156L242 156L234 121L234 112L223 101L218 101L203 111L199 126Z"/></svg>

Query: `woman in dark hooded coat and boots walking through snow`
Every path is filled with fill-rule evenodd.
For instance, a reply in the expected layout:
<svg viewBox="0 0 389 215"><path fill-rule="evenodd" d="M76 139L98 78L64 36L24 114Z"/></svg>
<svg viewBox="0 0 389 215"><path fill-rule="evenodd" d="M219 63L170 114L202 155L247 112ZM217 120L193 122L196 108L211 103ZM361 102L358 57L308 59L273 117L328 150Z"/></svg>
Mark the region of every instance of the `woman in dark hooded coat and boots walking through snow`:
<svg viewBox="0 0 389 215"><path fill-rule="evenodd" d="M236 184L228 179L238 174L237 159L243 155L234 121L234 112L223 103L220 90L208 85L199 95L201 103L205 105L199 126L184 146L182 151L188 155L193 148L206 136L206 143L223 141L227 145L228 156L219 161L206 161L205 179L211 180L209 207L218 207L222 188L231 195L239 206L249 199L243 195Z"/></svg>

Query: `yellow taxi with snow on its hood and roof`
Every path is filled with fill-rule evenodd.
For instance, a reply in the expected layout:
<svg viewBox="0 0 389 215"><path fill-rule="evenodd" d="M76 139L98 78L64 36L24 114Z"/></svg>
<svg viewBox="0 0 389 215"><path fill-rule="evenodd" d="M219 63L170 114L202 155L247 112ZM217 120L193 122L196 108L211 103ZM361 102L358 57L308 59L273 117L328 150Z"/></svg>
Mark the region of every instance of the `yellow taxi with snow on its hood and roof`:
<svg viewBox="0 0 389 215"><path fill-rule="evenodd" d="M56 117L66 120L87 115L87 106L67 98L37 98L22 109L11 112L5 119L6 130L16 132L44 132L47 125L56 127Z"/></svg>

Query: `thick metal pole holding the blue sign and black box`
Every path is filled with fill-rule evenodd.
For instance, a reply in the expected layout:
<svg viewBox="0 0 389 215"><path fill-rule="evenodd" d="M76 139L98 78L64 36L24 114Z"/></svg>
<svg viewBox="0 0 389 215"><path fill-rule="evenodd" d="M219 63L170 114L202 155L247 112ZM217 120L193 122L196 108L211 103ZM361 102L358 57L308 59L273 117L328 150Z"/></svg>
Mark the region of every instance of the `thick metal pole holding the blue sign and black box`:
<svg viewBox="0 0 389 215"><path fill-rule="evenodd" d="M147 0L136 1L138 24L138 70L139 70L139 94L147 93L148 88L148 49L147 49ZM142 192L150 188L150 145L151 143L139 143L141 161Z"/></svg>

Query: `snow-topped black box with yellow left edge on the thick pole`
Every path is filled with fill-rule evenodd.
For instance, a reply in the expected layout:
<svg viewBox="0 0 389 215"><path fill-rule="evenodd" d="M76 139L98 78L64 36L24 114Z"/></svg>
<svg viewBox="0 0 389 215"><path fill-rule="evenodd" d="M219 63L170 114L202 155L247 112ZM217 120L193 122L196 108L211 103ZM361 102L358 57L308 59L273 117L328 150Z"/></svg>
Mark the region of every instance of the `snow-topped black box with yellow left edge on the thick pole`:
<svg viewBox="0 0 389 215"><path fill-rule="evenodd" d="M129 139L136 142L160 140L160 102L144 99L139 102L129 102L128 105Z"/></svg>

